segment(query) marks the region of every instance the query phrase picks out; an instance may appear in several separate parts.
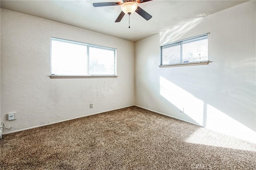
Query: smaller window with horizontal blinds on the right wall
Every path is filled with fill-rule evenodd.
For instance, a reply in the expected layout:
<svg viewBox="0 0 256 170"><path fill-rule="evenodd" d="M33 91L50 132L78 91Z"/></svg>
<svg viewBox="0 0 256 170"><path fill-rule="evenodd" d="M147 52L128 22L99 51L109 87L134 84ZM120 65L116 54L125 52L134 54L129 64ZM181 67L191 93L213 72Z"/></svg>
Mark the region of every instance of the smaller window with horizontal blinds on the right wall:
<svg viewBox="0 0 256 170"><path fill-rule="evenodd" d="M208 34L160 46L160 67L208 64Z"/></svg>

